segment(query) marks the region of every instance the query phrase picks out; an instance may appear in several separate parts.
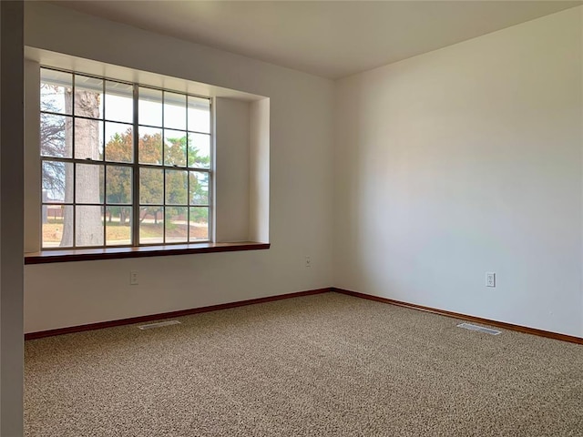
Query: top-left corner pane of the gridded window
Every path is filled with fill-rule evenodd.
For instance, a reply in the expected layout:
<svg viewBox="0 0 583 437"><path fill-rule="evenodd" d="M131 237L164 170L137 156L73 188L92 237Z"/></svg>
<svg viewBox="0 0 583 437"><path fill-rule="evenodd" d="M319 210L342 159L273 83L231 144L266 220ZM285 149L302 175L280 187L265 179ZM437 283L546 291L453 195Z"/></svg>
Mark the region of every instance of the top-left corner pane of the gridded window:
<svg viewBox="0 0 583 437"><path fill-rule="evenodd" d="M71 115L73 75L40 69L40 110Z"/></svg>

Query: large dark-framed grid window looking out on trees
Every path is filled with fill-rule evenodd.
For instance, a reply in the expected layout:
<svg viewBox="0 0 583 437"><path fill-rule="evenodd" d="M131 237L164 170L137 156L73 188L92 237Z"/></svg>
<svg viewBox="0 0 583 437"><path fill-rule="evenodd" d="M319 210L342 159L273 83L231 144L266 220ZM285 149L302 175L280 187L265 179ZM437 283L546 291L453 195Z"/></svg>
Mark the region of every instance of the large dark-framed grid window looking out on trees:
<svg viewBox="0 0 583 437"><path fill-rule="evenodd" d="M210 240L210 99L41 68L42 249Z"/></svg>

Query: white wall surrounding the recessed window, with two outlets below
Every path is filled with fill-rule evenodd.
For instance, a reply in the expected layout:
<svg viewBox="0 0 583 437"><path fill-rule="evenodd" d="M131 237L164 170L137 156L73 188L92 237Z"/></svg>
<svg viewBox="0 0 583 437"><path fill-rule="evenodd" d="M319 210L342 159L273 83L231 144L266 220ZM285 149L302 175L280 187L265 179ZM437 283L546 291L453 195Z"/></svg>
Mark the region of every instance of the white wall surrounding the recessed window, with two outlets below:
<svg viewBox="0 0 583 437"><path fill-rule="evenodd" d="M269 97L271 123L271 249L26 266L26 332L331 285L332 81L44 3L26 3L25 42Z"/></svg>

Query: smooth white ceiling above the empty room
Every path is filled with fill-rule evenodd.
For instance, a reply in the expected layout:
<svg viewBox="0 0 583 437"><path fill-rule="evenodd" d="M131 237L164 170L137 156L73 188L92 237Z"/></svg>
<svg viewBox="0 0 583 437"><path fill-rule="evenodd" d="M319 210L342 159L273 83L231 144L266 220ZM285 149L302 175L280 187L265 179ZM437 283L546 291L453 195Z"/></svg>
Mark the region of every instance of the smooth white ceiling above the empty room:
<svg viewBox="0 0 583 437"><path fill-rule="evenodd" d="M580 1L56 1L90 15L339 78Z"/></svg>

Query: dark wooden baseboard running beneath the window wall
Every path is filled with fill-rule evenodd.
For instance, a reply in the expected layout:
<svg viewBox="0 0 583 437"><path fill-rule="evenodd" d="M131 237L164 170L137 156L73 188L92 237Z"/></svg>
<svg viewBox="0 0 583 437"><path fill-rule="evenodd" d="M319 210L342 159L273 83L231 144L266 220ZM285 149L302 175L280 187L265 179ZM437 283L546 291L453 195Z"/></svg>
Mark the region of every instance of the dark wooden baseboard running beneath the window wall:
<svg viewBox="0 0 583 437"><path fill-rule="evenodd" d="M255 303L271 302L273 300L299 298L301 296L312 296L314 294L327 293L332 291L330 288L299 291L297 293L281 294L278 296L269 296L267 298L240 300L238 302L221 303L220 305L210 305L210 307L193 308L190 310L179 310L162 312L159 314L150 314L148 316L130 317L128 319L100 321L98 323L89 323L87 325L70 326L67 328L59 328L56 330L41 330L38 332L29 332L25 334L25 340L42 339L44 337L52 337L54 335L71 334L74 332L82 332L85 330L101 330L104 328L112 328L114 326L131 325L134 323L144 323L147 321L172 319L175 317L189 316L191 314L199 314L200 312L209 312L216 310L227 310L229 308L242 307L245 305L253 305Z"/></svg>

